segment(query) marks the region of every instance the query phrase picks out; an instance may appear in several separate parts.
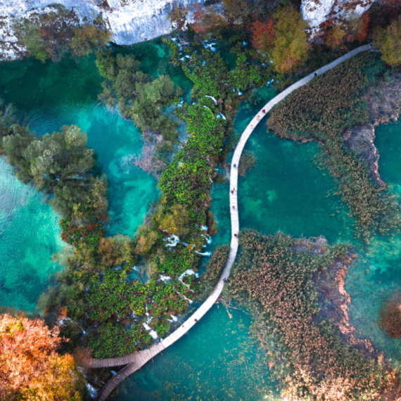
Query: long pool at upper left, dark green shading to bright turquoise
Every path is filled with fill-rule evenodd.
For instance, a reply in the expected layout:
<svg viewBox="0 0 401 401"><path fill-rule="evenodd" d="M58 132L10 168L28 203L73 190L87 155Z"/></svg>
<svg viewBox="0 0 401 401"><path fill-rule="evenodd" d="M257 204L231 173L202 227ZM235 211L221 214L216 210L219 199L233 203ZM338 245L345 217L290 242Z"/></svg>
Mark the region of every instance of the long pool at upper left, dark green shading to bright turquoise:
<svg viewBox="0 0 401 401"><path fill-rule="evenodd" d="M153 68L153 65L152 65ZM13 103L38 135L63 125L78 125L88 134L88 144L108 177L110 235L134 235L144 221L150 203L158 199L157 182L132 164L141 153L139 129L118 113L98 104L102 79L89 57L79 63L38 61L3 63L0 97Z"/></svg>

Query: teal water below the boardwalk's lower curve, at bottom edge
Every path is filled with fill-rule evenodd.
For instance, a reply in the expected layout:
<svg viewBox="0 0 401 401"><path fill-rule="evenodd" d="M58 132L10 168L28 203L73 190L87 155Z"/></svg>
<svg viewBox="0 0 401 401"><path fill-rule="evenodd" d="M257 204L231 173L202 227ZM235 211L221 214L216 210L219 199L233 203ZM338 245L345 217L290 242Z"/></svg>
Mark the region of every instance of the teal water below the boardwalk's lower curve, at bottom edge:
<svg viewBox="0 0 401 401"><path fill-rule="evenodd" d="M115 400L274 400L249 325L248 314L219 303L178 343L124 381Z"/></svg>

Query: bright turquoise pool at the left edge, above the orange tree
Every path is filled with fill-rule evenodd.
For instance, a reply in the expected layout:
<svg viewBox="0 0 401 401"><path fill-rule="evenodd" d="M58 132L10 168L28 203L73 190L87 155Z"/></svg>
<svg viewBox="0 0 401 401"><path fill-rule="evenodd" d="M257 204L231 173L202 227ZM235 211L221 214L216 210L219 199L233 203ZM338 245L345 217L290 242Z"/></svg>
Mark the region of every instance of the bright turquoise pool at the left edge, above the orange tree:
<svg viewBox="0 0 401 401"><path fill-rule="evenodd" d="M49 274L61 269L51 262L63 248L58 219L43 194L21 184L0 157L0 305L34 310Z"/></svg>

